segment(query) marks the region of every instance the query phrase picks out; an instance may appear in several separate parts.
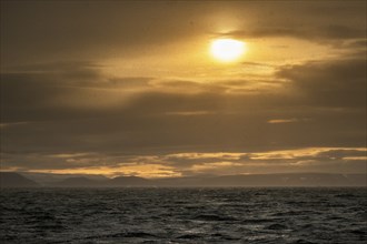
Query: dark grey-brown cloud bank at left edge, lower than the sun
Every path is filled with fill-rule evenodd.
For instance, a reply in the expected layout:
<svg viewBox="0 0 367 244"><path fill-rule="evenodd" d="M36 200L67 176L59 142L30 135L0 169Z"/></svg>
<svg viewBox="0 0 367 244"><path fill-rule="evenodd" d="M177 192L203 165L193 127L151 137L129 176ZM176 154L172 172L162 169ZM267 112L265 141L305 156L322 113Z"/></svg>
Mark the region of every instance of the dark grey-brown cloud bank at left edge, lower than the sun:
<svg viewBox="0 0 367 244"><path fill-rule="evenodd" d="M19 67L0 78L2 123L113 115L128 101L129 89L151 80L107 77L89 62Z"/></svg>

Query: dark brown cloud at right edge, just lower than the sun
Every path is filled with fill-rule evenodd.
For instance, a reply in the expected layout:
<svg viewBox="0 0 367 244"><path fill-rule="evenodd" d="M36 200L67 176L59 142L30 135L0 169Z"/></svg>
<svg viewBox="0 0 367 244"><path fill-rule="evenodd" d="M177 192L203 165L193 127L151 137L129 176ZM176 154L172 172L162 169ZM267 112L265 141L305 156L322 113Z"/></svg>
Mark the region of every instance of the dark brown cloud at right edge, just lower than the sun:
<svg viewBox="0 0 367 244"><path fill-rule="evenodd" d="M365 59L340 59L281 68L277 75L314 105L365 109L366 69Z"/></svg>

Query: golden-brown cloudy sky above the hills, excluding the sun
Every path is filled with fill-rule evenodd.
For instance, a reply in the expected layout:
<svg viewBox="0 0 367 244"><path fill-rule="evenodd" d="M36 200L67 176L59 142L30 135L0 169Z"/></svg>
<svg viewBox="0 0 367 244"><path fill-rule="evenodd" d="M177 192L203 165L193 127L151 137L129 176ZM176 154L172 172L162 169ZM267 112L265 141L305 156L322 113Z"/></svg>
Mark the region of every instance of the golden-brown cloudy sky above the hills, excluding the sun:
<svg viewBox="0 0 367 244"><path fill-rule="evenodd" d="M367 172L366 1L3 0L0 24L2 171Z"/></svg>

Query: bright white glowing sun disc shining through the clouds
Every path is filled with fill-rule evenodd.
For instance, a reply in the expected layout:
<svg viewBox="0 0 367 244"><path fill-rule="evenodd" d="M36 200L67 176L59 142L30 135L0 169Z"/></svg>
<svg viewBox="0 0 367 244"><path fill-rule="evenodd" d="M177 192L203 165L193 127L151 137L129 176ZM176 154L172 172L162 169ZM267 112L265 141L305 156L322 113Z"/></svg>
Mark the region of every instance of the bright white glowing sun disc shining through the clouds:
<svg viewBox="0 0 367 244"><path fill-rule="evenodd" d="M234 39L217 39L211 42L210 53L219 61L232 62L246 51L246 43Z"/></svg>

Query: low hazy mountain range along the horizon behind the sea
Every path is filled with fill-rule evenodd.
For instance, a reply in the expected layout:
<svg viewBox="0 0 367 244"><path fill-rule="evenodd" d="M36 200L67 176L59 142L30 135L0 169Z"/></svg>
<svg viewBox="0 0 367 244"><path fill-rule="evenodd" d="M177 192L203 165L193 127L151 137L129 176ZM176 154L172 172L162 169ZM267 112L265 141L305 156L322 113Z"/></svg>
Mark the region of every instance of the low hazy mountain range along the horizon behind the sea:
<svg viewBox="0 0 367 244"><path fill-rule="evenodd" d="M24 175L24 174L23 174ZM0 172L1 187L236 187L236 186L367 186L367 174L285 173L222 176L113 179L69 175L58 181L36 181L14 172ZM27 174L26 174L27 175ZM34 176L34 175L33 175ZM44 175L43 175L44 176ZM57 175L56 175L57 177ZM44 177L43 177L44 179Z"/></svg>

